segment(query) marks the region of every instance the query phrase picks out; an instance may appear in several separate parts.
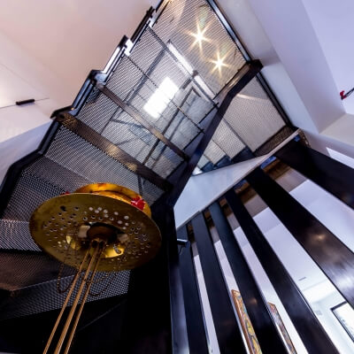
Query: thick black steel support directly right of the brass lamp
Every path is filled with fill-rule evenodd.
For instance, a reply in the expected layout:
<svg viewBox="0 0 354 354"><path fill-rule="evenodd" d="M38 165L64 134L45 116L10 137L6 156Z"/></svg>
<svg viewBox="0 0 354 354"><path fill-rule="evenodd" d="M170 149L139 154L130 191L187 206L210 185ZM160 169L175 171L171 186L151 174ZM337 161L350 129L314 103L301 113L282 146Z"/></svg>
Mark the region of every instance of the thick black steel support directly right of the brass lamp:
<svg viewBox="0 0 354 354"><path fill-rule="evenodd" d="M184 300L173 209L151 207L162 235L158 256L131 272L123 353L188 354Z"/></svg>

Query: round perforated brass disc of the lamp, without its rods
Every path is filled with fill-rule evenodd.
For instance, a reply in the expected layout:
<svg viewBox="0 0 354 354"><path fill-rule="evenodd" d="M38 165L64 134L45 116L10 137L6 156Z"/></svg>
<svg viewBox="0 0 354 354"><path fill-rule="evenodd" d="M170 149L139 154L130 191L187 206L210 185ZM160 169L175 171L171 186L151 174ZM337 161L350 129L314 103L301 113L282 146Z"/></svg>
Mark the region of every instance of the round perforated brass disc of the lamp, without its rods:
<svg viewBox="0 0 354 354"><path fill-rule="evenodd" d="M109 196L56 196L40 205L29 222L36 244L75 268L79 268L89 248L86 230L97 225L119 235L119 240L107 242L98 271L133 269L158 253L161 235L155 222L135 206Z"/></svg>

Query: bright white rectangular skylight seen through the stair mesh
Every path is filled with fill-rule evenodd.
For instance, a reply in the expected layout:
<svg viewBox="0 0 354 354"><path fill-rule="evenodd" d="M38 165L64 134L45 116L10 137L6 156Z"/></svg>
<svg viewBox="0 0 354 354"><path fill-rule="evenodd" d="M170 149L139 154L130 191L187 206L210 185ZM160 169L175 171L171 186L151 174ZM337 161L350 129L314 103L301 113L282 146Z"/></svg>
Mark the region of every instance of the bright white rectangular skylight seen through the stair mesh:
<svg viewBox="0 0 354 354"><path fill-rule="evenodd" d="M152 118L158 119L160 114L165 111L167 104L173 99L178 91L178 87L169 78L165 77L158 89L150 96L143 109L150 114Z"/></svg>

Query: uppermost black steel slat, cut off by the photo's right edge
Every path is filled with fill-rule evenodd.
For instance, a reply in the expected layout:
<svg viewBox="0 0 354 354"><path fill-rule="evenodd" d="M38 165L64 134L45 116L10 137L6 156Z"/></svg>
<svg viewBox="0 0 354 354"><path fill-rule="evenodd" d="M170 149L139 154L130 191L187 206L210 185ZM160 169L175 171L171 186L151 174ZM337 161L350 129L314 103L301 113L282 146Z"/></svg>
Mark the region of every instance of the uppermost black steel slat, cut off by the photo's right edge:
<svg viewBox="0 0 354 354"><path fill-rule="evenodd" d="M354 169L295 141L275 156L354 208Z"/></svg>

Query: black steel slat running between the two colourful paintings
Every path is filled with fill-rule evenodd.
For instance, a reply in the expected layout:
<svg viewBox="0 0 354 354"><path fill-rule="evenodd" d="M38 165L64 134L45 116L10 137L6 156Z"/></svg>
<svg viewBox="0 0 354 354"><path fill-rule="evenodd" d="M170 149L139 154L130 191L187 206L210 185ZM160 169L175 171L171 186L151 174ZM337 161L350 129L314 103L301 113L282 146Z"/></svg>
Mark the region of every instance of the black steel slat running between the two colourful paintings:
<svg viewBox="0 0 354 354"><path fill-rule="evenodd" d="M250 267L243 257L242 250L235 239L226 216L221 211L219 203L213 203L209 207L209 212L212 215L212 220L218 231L219 239L224 247L262 351L277 354L288 353L275 327L266 299L258 289Z"/></svg>

